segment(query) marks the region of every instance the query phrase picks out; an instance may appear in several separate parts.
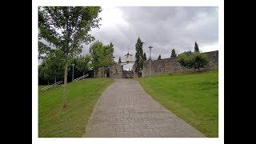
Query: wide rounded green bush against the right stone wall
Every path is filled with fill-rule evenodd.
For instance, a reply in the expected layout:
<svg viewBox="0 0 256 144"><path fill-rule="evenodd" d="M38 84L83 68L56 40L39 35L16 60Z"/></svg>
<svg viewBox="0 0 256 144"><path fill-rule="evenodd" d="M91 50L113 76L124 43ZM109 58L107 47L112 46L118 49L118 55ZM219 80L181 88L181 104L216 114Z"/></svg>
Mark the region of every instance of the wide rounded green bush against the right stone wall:
<svg viewBox="0 0 256 144"><path fill-rule="evenodd" d="M194 68L199 71L200 68L208 64L209 58L206 54L202 53L182 53L178 55L178 62L188 69Z"/></svg>

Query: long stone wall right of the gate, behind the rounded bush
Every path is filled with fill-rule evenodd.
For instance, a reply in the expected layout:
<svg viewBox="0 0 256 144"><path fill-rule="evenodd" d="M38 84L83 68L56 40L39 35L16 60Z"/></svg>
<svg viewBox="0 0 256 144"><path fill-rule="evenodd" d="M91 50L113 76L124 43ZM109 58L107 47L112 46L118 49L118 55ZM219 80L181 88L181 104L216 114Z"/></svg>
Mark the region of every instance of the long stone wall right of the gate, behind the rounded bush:
<svg viewBox="0 0 256 144"><path fill-rule="evenodd" d="M218 68L218 50L206 52L209 57L210 62L202 70L209 70ZM144 62L143 65L143 75L142 77L149 77L150 62ZM174 74L174 73L184 73L189 71L195 71L194 69L186 69L177 62L176 58L165 58L151 61L151 76L155 74Z"/></svg>

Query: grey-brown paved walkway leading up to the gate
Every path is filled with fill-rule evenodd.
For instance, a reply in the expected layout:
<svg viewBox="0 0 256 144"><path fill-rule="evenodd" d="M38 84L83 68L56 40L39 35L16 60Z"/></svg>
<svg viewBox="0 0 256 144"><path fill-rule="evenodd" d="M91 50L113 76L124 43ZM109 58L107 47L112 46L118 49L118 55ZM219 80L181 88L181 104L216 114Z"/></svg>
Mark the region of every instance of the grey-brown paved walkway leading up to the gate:
<svg viewBox="0 0 256 144"><path fill-rule="evenodd" d="M166 110L137 81L115 79L98 99L83 137L205 137Z"/></svg>

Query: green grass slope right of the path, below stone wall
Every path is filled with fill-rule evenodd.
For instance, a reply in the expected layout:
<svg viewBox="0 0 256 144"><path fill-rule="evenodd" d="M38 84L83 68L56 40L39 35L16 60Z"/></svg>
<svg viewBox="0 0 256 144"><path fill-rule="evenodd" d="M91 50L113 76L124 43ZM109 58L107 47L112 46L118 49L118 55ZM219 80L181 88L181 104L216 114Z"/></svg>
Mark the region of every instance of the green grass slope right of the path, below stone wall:
<svg viewBox="0 0 256 144"><path fill-rule="evenodd" d="M135 80L166 109L206 137L218 137L218 70Z"/></svg>

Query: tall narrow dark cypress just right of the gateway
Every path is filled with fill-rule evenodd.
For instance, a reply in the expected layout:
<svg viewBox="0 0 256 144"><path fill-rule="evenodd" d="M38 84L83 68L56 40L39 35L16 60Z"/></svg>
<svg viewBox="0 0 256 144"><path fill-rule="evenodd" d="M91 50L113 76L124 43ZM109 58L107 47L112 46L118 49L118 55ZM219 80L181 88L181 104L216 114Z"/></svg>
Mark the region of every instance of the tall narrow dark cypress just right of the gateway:
<svg viewBox="0 0 256 144"><path fill-rule="evenodd" d="M142 50L142 46L143 46L142 40L138 37L137 43L135 45L136 48L136 54L135 54L135 63L134 63L134 67L135 67L135 72L138 74L138 77L140 77L140 73L143 69L143 59L144 59L144 55L143 55L143 50Z"/></svg>

